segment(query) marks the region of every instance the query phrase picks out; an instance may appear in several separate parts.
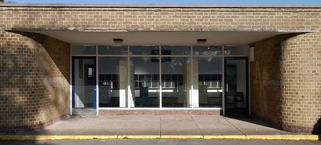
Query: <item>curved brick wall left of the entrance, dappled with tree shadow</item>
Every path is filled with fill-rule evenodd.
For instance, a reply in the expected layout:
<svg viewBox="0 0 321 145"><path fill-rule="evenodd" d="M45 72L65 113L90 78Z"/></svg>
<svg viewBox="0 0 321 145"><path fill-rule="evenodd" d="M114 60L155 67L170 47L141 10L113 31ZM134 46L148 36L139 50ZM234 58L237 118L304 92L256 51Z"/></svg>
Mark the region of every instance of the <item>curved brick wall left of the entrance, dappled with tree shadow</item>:
<svg viewBox="0 0 321 145"><path fill-rule="evenodd" d="M39 129L69 112L70 45L23 34L40 43L0 31L0 133Z"/></svg>

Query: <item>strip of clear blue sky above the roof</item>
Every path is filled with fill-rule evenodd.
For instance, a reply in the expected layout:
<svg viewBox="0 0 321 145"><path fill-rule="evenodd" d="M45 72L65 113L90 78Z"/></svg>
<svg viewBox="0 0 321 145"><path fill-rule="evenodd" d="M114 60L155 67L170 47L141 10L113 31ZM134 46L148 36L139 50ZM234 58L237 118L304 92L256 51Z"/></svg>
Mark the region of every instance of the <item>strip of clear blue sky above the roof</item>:
<svg viewBox="0 0 321 145"><path fill-rule="evenodd" d="M17 3L74 3L74 4L295 4L295 5L321 5L321 0L121 0L121 1L84 1L84 0L5 0L5 2L12 1Z"/></svg>

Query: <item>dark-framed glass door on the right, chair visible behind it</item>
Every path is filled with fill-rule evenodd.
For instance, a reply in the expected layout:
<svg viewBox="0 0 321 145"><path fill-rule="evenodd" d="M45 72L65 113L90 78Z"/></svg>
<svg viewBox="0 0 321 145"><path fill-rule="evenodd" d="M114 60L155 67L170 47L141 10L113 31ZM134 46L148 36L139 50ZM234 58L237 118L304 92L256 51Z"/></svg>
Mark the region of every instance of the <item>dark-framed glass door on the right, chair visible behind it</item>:
<svg viewBox="0 0 321 145"><path fill-rule="evenodd" d="M248 58L225 57L225 115L249 114Z"/></svg>

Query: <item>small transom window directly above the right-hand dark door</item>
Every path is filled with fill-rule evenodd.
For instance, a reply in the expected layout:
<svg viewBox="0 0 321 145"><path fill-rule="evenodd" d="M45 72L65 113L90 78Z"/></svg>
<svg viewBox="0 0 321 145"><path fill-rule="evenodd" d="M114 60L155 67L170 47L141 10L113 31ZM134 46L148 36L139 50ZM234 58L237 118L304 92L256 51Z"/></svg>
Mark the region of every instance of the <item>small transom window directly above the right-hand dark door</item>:
<svg viewBox="0 0 321 145"><path fill-rule="evenodd" d="M239 46L224 46L225 55L248 55L248 46L239 45Z"/></svg>

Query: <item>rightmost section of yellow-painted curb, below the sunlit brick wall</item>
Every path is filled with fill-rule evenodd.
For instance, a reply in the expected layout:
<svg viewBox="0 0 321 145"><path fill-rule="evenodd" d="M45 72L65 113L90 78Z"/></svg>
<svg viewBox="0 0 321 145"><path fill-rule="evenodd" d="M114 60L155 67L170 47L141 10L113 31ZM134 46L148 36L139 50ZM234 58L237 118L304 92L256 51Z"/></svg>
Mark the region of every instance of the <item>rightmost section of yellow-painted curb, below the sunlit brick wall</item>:
<svg viewBox="0 0 321 145"><path fill-rule="evenodd" d="M247 135L246 139L318 140L318 135Z"/></svg>

